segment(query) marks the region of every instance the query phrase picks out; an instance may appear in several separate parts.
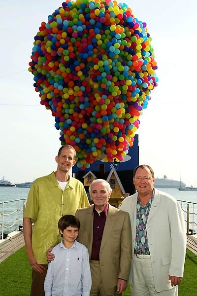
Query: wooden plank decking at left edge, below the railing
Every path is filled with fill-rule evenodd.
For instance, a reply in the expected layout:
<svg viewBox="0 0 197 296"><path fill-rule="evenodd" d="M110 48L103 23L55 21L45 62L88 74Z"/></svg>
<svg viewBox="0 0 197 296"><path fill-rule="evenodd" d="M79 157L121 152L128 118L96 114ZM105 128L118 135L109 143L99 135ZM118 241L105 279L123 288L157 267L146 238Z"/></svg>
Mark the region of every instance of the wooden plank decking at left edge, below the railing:
<svg viewBox="0 0 197 296"><path fill-rule="evenodd" d="M7 259L10 255L18 251L25 245L23 232L20 231L13 237L7 238L0 243L0 262Z"/></svg>

